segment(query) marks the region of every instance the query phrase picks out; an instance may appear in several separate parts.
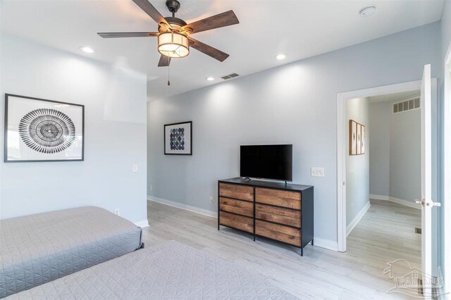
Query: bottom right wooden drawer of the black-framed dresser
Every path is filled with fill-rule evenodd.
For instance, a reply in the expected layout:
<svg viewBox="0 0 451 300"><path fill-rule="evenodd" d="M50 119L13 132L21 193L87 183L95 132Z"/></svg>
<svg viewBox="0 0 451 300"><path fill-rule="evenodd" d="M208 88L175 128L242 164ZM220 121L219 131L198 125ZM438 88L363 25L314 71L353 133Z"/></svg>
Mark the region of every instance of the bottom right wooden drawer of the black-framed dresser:
<svg viewBox="0 0 451 300"><path fill-rule="evenodd" d="M294 246L301 246L301 230L292 227L255 220L255 234Z"/></svg>

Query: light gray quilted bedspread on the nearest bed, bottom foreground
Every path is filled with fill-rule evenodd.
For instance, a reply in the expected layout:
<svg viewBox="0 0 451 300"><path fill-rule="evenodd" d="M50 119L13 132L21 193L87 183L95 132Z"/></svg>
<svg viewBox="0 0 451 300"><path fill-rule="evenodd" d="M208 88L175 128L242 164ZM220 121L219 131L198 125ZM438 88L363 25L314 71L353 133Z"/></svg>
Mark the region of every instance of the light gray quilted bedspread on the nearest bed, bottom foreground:
<svg viewBox="0 0 451 300"><path fill-rule="evenodd" d="M133 252L8 299L295 299L266 277L179 242Z"/></svg>

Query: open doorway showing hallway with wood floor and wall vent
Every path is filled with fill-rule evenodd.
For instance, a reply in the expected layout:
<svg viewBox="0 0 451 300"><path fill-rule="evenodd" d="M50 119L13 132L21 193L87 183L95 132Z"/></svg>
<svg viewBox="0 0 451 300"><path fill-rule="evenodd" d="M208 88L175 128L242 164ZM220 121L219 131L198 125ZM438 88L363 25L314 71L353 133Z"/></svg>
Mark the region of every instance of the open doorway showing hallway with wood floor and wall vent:
<svg viewBox="0 0 451 300"><path fill-rule="evenodd" d="M347 99L345 118L347 251L381 276L421 268L420 90Z"/></svg>

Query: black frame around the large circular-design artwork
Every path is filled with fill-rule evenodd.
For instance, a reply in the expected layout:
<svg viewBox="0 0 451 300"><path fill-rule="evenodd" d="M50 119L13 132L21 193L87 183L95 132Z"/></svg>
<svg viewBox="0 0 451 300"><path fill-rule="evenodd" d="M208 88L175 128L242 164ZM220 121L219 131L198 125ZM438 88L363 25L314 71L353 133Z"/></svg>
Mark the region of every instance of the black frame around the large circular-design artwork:
<svg viewBox="0 0 451 300"><path fill-rule="evenodd" d="M54 104L61 104L61 105L70 105L70 106L80 106L82 109L82 147L81 147L81 158L77 159L37 159L37 160L10 160L8 159L8 101L9 97L18 97L23 99L30 99L30 100L37 100L37 101L45 101L45 102L51 102ZM85 106L82 104L73 104L69 102L61 102L61 101L54 101L49 99L42 99L42 98L36 98L36 97L30 97L30 96L23 96L18 94L7 94L5 93L5 123L4 123L4 162L5 163L49 163L49 162L61 162L61 161L85 161Z"/></svg>

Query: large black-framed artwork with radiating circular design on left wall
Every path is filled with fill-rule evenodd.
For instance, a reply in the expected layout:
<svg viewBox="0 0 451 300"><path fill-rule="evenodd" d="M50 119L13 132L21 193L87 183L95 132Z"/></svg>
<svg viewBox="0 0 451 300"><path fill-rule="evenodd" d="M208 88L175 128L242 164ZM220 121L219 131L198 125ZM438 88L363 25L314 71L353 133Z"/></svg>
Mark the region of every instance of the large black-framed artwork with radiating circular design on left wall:
<svg viewBox="0 0 451 300"><path fill-rule="evenodd" d="M5 94L4 161L83 161L85 106Z"/></svg>

